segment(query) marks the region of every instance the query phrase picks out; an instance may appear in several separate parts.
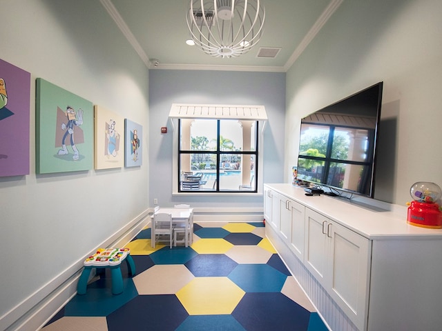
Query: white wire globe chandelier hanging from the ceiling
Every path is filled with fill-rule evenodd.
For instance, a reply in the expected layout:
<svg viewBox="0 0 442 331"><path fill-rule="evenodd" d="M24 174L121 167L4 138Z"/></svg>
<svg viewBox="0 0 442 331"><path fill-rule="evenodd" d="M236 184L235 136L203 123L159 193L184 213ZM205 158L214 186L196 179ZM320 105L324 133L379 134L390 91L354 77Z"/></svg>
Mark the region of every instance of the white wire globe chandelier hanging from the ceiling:
<svg viewBox="0 0 442 331"><path fill-rule="evenodd" d="M239 57L264 32L265 8L260 0L191 0L187 26L191 39L213 57Z"/></svg>

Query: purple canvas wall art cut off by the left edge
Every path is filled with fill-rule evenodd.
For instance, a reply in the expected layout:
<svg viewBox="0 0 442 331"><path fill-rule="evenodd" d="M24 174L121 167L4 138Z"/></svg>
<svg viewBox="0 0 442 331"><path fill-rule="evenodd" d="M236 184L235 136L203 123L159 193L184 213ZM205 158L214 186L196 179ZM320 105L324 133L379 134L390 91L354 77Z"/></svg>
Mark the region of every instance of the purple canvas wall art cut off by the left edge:
<svg viewBox="0 0 442 331"><path fill-rule="evenodd" d="M0 59L0 177L29 174L30 73Z"/></svg>

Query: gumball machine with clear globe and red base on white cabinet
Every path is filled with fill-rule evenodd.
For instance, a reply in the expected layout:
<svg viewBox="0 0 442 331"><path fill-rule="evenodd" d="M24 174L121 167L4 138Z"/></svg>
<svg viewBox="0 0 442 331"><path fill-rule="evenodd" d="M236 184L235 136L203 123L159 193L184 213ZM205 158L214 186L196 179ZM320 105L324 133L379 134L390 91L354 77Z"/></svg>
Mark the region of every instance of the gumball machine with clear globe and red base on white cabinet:
<svg viewBox="0 0 442 331"><path fill-rule="evenodd" d="M410 195L414 201L409 203L407 223L422 228L442 229L442 211L436 203L442 196L439 185L418 181L410 188Z"/></svg>

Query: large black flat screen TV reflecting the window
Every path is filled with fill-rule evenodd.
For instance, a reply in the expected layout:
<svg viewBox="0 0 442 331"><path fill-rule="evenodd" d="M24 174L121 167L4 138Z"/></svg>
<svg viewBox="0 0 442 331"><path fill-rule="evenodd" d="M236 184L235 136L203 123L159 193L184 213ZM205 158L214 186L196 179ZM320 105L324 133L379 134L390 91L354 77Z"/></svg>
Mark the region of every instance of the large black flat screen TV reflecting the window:
<svg viewBox="0 0 442 331"><path fill-rule="evenodd" d="M374 196L383 82L301 119L298 179Z"/></svg>

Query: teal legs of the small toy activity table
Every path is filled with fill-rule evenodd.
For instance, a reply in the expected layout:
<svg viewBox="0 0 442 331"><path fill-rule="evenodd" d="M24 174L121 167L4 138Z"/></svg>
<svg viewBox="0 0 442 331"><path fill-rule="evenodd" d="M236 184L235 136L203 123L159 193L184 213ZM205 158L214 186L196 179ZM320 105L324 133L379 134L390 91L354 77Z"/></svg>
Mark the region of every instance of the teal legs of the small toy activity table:
<svg viewBox="0 0 442 331"><path fill-rule="evenodd" d="M131 276L135 276L135 263L133 262L131 255L128 254L125 260L127 263L128 273ZM122 276L122 269L120 268L120 266L121 263L119 263L119 265L85 266L83 272L81 272L81 276L77 284L77 294L86 294L86 288L88 285L90 270L92 270L92 268L96 268L97 270L110 268L111 277L112 277L112 294L121 294L123 292L123 276Z"/></svg>

